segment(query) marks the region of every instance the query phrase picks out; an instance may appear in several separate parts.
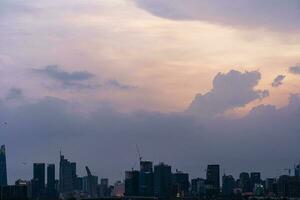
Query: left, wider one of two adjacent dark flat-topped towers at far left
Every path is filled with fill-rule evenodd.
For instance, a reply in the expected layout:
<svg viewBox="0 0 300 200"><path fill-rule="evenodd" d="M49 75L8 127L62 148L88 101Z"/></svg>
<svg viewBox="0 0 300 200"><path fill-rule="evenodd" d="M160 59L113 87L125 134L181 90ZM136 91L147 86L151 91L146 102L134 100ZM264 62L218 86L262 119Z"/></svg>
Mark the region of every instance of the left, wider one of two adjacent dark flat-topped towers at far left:
<svg viewBox="0 0 300 200"><path fill-rule="evenodd" d="M32 196L41 197L45 193L45 163L33 164Z"/></svg>

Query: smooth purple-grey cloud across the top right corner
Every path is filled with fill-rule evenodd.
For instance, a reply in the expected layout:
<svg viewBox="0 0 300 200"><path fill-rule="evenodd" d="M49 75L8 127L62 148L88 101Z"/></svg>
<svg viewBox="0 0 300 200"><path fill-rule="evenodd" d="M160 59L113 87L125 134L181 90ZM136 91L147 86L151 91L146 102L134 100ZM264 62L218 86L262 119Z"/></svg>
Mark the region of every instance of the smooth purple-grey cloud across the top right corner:
<svg viewBox="0 0 300 200"><path fill-rule="evenodd" d="M300 30L299 0L134 0L150 13L173 20L202 20L238 27Z"/></svg>

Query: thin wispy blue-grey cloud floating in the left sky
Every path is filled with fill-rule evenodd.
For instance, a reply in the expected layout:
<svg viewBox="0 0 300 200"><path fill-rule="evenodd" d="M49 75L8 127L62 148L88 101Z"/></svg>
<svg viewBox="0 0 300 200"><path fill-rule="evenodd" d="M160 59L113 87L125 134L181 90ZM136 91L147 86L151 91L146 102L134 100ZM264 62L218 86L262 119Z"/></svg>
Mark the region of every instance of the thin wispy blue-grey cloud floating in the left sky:
<svg viewBox="0 0 300 200"><path fill-rule="evenodd" d="M95 89L100 87L100 84L89 82L94 78L94 75L87 71L67 72L57 65L48 65L42 69L33 69L33 71L58 82L59 87L63 89Z"/></svg>

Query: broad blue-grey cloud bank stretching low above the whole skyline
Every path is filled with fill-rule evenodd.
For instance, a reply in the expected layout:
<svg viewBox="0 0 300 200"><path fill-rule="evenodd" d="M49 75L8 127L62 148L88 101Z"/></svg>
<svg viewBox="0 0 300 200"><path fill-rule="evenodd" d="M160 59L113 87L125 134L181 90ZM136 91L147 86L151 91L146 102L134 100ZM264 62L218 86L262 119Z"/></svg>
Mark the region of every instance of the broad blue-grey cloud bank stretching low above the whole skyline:
<svg viewBox="0 0 300 200"><path fill-rule="evenodd" d="M22 162L57 163L59 150L77 162L79 175L88 165L95 175L113 180L124 178L124 170L138 160L136 144L144 159L165 161L191 177L203 175L208 163L220 163L234 175L259 170L263 177L277 176L277 169L299 159L297 95L286 107L261 105L242 119L199 121L184 113L124 114L105 106L87 115L72 107L49 97L13 109L0 102L0 120L8 122L0 128L10 182L24 173L32 178L32 165L24 169Z"/></svg>

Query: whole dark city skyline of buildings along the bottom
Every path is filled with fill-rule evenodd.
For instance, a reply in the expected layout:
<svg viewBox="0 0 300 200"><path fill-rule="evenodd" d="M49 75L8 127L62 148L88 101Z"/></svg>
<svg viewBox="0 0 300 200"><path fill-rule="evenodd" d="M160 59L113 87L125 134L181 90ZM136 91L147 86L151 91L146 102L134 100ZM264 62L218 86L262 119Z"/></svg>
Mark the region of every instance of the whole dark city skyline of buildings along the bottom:
<svg viewBox="0 0 300 200"><path fill-rule="evenodd" d="M56 179L58 177L58 179ZM86 167L86 176L79 177L76 163L60 155L59 171L55 164L33 163L31 180L7 184L5 146L0 149L0 200L56 199L300 199L300 164L294 174L262 179L260 172L242 172L235 179L220 174L220 166L208 165L205 178L193 178L170 165L140 159L139 170L125 172L125 180L109 185L107 178L98 179Z"/></svg>

